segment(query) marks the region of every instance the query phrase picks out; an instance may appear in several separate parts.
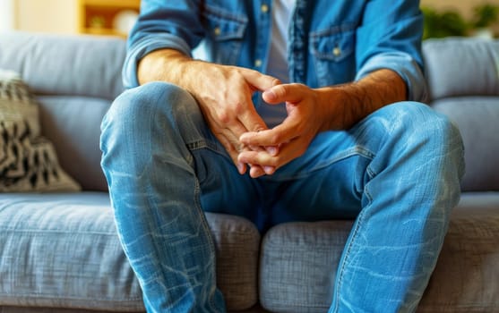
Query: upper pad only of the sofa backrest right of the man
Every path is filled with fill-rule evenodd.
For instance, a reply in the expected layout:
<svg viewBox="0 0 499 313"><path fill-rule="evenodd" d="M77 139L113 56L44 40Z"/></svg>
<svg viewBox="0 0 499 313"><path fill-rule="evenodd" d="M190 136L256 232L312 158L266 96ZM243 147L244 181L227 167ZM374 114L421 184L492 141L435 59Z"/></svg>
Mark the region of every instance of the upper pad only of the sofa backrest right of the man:
<svg viewBox="0 0 499 313"><path fill-rule="evenodd" d="M499 39L428 39L423 54L433 100L499 96Z"/></svg>

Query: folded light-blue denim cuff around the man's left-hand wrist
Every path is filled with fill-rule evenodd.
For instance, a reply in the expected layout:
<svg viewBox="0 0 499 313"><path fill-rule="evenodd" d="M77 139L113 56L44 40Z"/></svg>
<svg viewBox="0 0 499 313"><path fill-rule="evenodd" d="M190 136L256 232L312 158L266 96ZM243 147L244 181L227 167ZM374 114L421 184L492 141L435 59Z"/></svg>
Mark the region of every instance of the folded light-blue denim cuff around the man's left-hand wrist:
<svg viewBox="0 0 499 313"><path fill-rule="evenodd" d="M125 88L130 89L139 86L137 78L137 64L147 54L154 50L170 48L178 50L185 55L191 55L191 48L182 39L174 35L150 34L130 43L130 47L126 54L125 63L123 65L123 84Z"/></svg>

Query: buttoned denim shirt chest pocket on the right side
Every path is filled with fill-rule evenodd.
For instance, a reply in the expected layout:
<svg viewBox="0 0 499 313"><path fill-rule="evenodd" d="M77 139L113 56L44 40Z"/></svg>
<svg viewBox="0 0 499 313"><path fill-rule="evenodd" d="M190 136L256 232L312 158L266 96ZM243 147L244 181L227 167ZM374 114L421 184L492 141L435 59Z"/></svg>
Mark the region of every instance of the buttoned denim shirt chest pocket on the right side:
<svg viewBox="0 0 499 313"><path fill-rule="evenodd" d="M319 86L355 78L355 26L345 24L310 33L310 52Z"/></svg>

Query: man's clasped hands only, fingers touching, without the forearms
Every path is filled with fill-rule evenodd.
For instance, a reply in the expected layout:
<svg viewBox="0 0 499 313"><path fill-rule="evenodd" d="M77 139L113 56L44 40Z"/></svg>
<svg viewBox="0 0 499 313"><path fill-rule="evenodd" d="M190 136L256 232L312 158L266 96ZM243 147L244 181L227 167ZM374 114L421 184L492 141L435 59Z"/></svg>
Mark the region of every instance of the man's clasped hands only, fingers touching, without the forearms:
<svg viewBox="0 0 499 313"><path fill-rule="evenodd" d="M211 131L241 174L248 169L253 178L275 173L303 155L324 128L327 106L320 105L319 89L281 84L260 72L223 65L211 67L211 78L201 82L205 92L198 89L197 99ZM287 118L269 129L254 108L255 91L262 91L269 105L285 103Z"/></svg>

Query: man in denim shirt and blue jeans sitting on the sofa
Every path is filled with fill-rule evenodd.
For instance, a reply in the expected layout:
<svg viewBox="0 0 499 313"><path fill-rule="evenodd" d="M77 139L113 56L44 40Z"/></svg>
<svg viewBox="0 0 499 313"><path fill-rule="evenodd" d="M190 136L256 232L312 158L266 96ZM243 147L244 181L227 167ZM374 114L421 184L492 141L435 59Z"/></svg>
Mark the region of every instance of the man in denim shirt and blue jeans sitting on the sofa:
<svg viewBox="0 0 499 313"><path fill-rule="evenodd" d="M203 211L356 217L330 312L417 308L463 167L421 29L415 0L142 0L101 148L148 311L225 311Z"/></svg>

